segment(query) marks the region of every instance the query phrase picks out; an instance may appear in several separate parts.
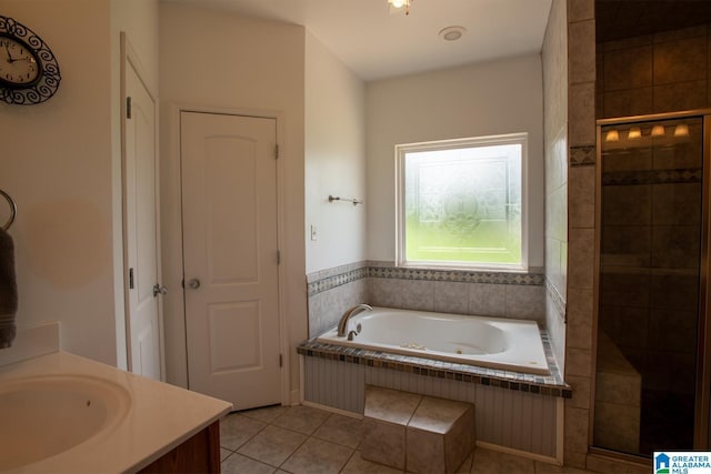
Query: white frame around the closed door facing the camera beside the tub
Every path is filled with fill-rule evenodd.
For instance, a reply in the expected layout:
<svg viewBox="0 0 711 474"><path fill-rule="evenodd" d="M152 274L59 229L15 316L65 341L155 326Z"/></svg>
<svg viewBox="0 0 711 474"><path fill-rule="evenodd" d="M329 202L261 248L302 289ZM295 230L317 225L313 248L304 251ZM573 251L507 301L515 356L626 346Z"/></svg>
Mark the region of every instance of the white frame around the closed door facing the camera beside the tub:
<svg viewBox="0 0 711 474"><path fill-rule="evenodd" d="M287 159L283 152L283 137L284 137L284 114L280 111L273 110L259 110L259 109L246 109L246 108L220 108L209 105L197 105L184 102L171 102L166 105L163 110L167 113L167 129L170 137L169 141L164 142L163 153L171 157L170 162L166 160L161 167L161 177L163 178L163 188L161 189L161 200L170 202L170 212L163 213L163 228L168 231L163 238L163 252L166 253L166 268L163 278L167 285L182 284L183 279L183 253L182 253L182 192L181 192L181 177L180 177L180 114L181 112L202 112L202 113L217 113L226 115L242 115L254 117L264 119L274 119L277 121L277 144L280 148L280 157L277 160L277 242L281 252L281 264L278 268L279 273L279 350L283 355L281 366L281 403L282 405L290 405L292 403L290 374L291 374L291 354L289 343L289 324L287 320L287 302L286 302L286 289L287 289L287 270L286 258L287 245L283 241L286 225L284 215L284 164ZM177 297L177 293L180 296ZM169 367L168 380L170 383L188 386L188 366L187 366L187 334L186 334L186 305L183 292L172 292L169 299L164 301L167 312L170 314L169 324L169 344L180 344L171 352L173 357L179 356L184 361L184 365L180 367Z"/></svg>

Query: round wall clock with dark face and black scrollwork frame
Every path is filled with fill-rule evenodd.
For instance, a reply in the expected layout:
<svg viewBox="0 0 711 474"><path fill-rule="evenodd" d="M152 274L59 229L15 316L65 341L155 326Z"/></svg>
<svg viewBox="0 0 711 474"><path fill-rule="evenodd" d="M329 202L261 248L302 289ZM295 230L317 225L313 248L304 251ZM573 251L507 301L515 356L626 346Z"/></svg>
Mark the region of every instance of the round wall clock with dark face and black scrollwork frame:
<svg viewBox="0 0 711 474"><path fill-rule="evenodd" d="M44 102L60 80L47 43L24 24L0 16L0 99L18 105Z"/></svg>

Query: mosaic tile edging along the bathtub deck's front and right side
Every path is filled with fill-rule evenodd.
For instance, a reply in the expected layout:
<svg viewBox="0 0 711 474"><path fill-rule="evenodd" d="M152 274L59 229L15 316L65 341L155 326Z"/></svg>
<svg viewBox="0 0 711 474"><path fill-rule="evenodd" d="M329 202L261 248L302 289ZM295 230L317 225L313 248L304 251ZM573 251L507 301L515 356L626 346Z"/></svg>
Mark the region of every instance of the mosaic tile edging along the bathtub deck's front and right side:
<svg viewBox="0 0 711 474"><path fill-rule="evenodd" d="M360 364L369 367L388 369L434 379L478 383L488 386L535 393L563 399L572 397L572 389L565 384L555 363L548 332L541 330L541 340L551 375L542 376L521 372L480 367L469 364L434 361L410 355L390 354L342 345L323 344L316 337L302 342L297 352L308 357Z"/></svg>

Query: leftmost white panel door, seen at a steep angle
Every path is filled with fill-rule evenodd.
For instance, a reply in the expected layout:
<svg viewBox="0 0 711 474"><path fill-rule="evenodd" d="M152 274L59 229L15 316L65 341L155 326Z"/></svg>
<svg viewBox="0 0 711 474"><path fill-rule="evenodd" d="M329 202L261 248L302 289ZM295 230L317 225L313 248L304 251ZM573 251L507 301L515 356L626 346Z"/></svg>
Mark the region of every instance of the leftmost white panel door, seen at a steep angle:
<svg viewBox="0 0 711 474"><path fill-rule="evenodd" d="M161 380L156 103L127 61L130 98L124 135L124 225L128 268L129 369Z"/></svg>

